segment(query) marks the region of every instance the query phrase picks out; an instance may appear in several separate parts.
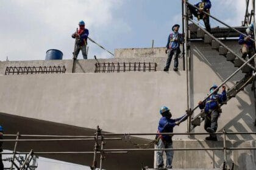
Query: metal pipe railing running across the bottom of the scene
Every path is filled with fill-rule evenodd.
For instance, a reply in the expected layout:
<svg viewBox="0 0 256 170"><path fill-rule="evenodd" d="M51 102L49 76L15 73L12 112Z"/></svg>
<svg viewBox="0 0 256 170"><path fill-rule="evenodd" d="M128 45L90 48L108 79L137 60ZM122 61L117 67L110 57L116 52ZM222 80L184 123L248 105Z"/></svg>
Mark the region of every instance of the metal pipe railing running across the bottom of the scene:
<svg viewBox="0 0 256 170"><path fill-rule="evenodd" d="M99 169L102 169L103 165L103 160L104 160L104 154L127 154L128 152L136 152L136 151L223 151L224 154L224 161L223 161L223 169L226 169L227 165L227 151L232 151L232 150L256 150L256 147L241 147L241 148L234 148L234 147L228 147L227 146L227 135L242 135L242 134L247 134L247 135L256 135L256 132L226 132L225 129L222 132L216 132L213 134L216 135L224 135L223 137L223 147L216 147L216 148L169 148L169 149L155 149L155 148L122 148L122 149L104 149L105 146L105 140L130 140L130 136L144 136L144 135L208 135L209 133L121 133L121 134L109 134L109 133L102 133L102 129L97 126L96 132L94 135L91 136L73 136L73 135L21 135L20 133L17 133L16 135L13 134L7 134L4 135L4 137L16 137L16 140L12 139L4 139L0 141L15 141L15 151L13 152L2 152L2 154L5 155L13 155L13 159L15 160L15 154L26 154L26 155L50 155L50 154L93 154L93 165L91 166L91 169L96 169L97 168L97 158L100 159L100 164L99 164ZM112 137L113 136L113 137ZM118 137L119 136L119 137ZM44 139L20 139L20 137L40 137ZM46 138L48 137L48 138ZM49 137L54 137L54 139L49 138ZM18 142L20 141L92 141L94 140L94 149L93 151L80 151L80 152L34 152L35 149L31 149L29 152L18 152L16 151L16 147L18 146ZM130 142L132 143L132 142ZM134 144L133 145L140 145L140 144ZM150 143L152 144L152 142ZM141 144L144 145L144 144ZM100 155L100 157L98 157ZM255 155L256 156L256 155ZM29 161L26 161L29 162ZM17 165L15 165L15 162L12 161L12 166L15 166L15 168L19 169ZM12 169L12 166L10 169ZM29 165L24 165L29 166Z"/></svg>

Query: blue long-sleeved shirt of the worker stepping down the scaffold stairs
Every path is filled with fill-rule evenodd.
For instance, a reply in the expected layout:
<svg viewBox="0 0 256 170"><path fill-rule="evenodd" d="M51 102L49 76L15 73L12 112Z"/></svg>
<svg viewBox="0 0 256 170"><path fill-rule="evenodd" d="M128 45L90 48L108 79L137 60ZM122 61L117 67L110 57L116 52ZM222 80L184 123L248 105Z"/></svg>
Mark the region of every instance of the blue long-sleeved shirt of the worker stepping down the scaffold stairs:
<svg viewBox="0 0 256 170"><path fill-rule="evenodd" d="M218 104L223 103L227 100L226 90L222 94L213 94L211 97L208 97L207 100L199 105L200 109L204 109L205 114L208 114L210 110L215 110L219 106Z"/></svg>

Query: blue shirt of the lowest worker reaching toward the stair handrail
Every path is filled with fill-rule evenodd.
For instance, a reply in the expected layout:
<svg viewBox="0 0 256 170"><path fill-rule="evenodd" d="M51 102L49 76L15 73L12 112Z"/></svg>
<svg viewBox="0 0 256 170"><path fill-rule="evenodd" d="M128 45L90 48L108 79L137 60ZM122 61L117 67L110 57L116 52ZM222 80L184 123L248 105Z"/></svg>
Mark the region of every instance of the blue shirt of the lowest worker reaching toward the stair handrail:
<svg viewBox="0 0 256 170"><path fill-rule="evenodd" d="M172 119L172 118L166 118L162 117L159 120L158 123L158 132L160 133L172 133L173 127L176 126L176 121L182 120L183 117L185 117L187 114L183 115L180 118ZM158 135L157 135L158 137ZM171 135L162 135L162 139L165 141L171 141Z"/></svg>

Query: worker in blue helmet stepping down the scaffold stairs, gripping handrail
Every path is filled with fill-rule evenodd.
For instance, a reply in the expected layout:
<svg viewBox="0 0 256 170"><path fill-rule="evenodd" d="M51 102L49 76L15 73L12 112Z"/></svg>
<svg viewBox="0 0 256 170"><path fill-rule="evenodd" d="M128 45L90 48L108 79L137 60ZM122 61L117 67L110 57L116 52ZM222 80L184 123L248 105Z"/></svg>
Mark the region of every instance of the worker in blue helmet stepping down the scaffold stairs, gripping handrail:
<svg viewBox="0 0 256 170"><path fill-rule="evenodd" d="M213 84L210 88L210 93L214 92L218 86ZM217 136L215 133L218 128L218 118L221 114L220 104L227 100L226 86L222 86L222 94L218 94L218 90L207 98L205 102L199 101L199 108L204 109L205 120L204 120L204 129L205 131L211 133L210 137L206 137L205 140L217 141Z"/></svg>

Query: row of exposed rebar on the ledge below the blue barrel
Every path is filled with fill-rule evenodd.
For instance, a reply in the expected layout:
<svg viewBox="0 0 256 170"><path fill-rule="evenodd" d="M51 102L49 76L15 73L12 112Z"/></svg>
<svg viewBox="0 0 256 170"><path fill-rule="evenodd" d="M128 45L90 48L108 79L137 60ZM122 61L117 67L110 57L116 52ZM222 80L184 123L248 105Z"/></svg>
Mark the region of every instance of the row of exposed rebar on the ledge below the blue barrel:
<svg viewBox="0 0 256 170"><path fill-rule="evenodd" d="M65 66L39 66L39 67L6 67L5 75L26 75L26 74L44 74L44 73L65 73Z"/></svg>

